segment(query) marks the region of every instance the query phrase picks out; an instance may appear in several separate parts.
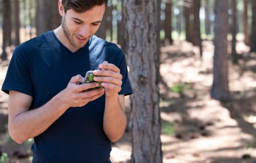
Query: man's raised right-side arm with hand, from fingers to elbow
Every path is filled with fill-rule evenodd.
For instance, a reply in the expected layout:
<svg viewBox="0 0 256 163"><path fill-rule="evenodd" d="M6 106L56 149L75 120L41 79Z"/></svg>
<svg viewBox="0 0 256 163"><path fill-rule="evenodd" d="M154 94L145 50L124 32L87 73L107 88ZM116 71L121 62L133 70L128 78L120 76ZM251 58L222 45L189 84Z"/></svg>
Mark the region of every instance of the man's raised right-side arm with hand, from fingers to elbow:
<svg viewBox="0 0 256 163"><path fill-rule="evenodd" d="M119 140L126 127L124 113L124 95L121 91L122 75L119 68L104 61L99 65L101 70L95 70L94 80L101 81L105 89L105 111L103 117L103 130L111 142Z"/></svg>

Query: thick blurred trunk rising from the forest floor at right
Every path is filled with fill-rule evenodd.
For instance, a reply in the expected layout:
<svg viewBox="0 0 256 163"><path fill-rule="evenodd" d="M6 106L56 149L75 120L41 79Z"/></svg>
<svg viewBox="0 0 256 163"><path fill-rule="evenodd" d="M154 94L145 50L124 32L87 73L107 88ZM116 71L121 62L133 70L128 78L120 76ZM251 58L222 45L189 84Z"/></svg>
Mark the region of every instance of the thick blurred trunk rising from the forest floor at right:
<svg viewBox="0 0 256 163"><path fill-rule="evenodd" d="M214 52L214 82L211 89L211 97L226 101L229 98L228 91L228 1L215 1L215 52Z"/></svg>

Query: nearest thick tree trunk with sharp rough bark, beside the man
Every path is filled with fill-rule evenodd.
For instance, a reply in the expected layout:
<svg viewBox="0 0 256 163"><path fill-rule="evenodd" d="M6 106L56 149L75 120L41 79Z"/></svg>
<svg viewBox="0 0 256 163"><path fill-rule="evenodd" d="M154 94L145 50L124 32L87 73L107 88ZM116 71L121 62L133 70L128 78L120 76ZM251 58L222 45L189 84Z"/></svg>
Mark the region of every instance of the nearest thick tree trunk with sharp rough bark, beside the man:
<svg viewBox="0 0 256 163"><path fill-rule="evenodd" d="M155 2L124 0L133 89L132 162L162 162Z"/></svg>

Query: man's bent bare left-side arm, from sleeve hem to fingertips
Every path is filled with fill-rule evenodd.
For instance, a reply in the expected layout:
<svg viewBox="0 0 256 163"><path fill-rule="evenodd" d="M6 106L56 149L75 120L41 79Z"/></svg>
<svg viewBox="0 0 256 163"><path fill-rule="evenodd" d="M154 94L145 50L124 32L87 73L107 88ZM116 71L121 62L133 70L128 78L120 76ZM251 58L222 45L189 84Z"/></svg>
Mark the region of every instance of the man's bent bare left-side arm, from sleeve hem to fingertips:
<svg viewBox="0 0 256 163"><path fill-rule="evenodd" d="M32 97L20 92L9 93L8 127L11 138L22 144L44 132L69 107L79 107L99 98L104 89L83 92L89 88L98 87L98 83L78 85L83 77L77 75L71 78L66 89L54 96L45 105L29 111Z"/></svg>

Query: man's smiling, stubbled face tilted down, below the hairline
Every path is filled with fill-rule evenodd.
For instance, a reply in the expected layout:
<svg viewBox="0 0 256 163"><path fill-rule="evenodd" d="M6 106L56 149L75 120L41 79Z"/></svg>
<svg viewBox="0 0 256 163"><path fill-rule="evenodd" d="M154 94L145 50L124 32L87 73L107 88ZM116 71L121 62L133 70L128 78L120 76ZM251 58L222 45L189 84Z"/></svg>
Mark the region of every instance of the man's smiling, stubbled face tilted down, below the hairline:
<svg viewBox="0 0 256 163"><path fill-rule="evenodd" d="M70 9L63 13L62 30L70 42L70 46L79 49L86 45L89 39L99 29L105 12L105 5L95 6L84 13L77 13Z"/></svg>

